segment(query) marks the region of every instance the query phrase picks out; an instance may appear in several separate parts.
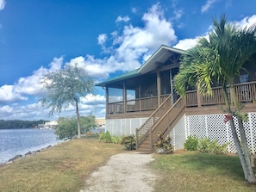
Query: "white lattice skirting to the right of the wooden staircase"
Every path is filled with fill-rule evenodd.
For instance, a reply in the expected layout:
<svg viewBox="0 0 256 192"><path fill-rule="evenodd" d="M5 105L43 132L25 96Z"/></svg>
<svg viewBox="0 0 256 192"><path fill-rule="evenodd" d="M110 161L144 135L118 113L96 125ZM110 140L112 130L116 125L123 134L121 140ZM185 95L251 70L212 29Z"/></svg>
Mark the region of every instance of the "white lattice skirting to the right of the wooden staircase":
<svg viewBox="0 0 256 192"><path fill-rule="evenodd" d="M256 152L256 113L248 113L249 120L244 122L248 147ZM238 127L237 121L234 121ZM217 139L219 145L230 143L228 152L236 152L229 123L224 123L223 115L189 115L183 116L174 127L170 136L175 149L184 148L184 141L189 135L199 139Z"/></svg>

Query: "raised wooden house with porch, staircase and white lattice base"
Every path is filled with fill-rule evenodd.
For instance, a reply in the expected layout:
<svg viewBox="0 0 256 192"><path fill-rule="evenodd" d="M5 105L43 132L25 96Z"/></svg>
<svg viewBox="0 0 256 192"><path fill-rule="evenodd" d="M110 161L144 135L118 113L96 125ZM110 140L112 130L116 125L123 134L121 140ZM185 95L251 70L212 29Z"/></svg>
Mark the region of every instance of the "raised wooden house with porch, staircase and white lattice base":
<svg viewBox="0 0 256 192"><path fill-rule="evenodd" d="M173 89L183 50L160 46L139 69L97 84L106 91L106 130L112 135L136 134L137 150L153 152L157 134L170 135L175 149L183 148L189 135L218 139L219 144L235 146L228 123L224 123L224 98L220 87L212 96L202 96L190 89L182 98ZM248 146L256 151L256 74L247 66L249 74L241 71L235 90L243 110Z"/></svg>

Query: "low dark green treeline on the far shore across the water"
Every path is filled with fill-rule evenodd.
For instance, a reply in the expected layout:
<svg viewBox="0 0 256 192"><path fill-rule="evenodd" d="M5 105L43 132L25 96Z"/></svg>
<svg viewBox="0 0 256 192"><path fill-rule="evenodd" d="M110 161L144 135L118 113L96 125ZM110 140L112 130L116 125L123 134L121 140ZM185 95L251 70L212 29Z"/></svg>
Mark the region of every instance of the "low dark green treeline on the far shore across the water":
<svg viewBox="0 0 256 192"><path fill-rule="evenodd" d="M0 120L0 129L5 128L37 128L38 124L43 124L46 121L22 121L22 120Z"/></svg>

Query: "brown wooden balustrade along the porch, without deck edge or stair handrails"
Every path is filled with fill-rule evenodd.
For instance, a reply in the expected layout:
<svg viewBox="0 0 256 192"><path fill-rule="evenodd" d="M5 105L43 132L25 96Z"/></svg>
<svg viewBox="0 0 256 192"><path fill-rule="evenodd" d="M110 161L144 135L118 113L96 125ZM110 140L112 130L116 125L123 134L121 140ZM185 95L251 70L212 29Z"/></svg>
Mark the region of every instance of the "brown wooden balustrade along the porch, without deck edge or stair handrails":
<svg viewBox="0 0 256 192"><path fill-rule="evenodd" d="M235 84L234 89L237 94L239 102L256 101L256 82L249 82L245 84ZM167 96L170 96L170 95L160 96L160 102L164 102ZM228 97L231 98L229 89L228 89ZM200 95L198 98L197 90L187 91L187 94L186 94L187 107L218 105L223 103L225 103L225 101L224 101L224 96L223 96L221 87L213 88L211 96ZM151 97L145 97L140 99L128 100L125 102L125 104L126 104L126 111L124 111L124 102L109 103L108 114L121 114L124 112L155 110L156 108L158 108L158 97L151 96Z"/></svg>

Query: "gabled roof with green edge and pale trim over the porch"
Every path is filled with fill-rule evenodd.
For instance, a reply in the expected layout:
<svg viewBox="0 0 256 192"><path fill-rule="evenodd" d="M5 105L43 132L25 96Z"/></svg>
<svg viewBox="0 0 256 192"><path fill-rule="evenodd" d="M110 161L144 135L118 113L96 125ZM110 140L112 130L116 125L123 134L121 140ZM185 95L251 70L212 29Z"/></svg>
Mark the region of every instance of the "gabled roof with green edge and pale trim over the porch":
<svg viewBox="0 0 256 192"><path fill-rule="evenodd" d="M153 71L157 68L157 65L155 65L155 63L157 62L164 63L165 60L170 57L170 53L184 54L185 51L178 48L173 48L171 46L162 45L159 47L159 49L155 53L153 53L153 55L149 59L147 59L147 61L143 65L140 66L139 69L129 71L118 77L111 78L107 81L96 84L96 86L106 87L107 84L115 83L117 81L128 79L130 77L137 77L137 76L140 76L141 74L145 74L149 71Z"/></svg>

